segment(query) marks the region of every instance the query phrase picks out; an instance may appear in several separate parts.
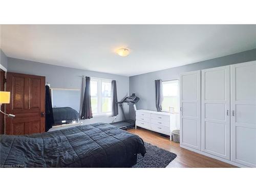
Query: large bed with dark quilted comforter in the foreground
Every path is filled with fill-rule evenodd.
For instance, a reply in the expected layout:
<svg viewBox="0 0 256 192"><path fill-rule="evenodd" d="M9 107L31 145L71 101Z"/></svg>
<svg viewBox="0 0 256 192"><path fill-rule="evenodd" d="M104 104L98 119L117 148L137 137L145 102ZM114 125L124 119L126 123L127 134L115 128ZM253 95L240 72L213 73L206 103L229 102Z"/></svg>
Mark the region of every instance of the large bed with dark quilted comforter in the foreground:
<svg viewBox="0 0 256 192"><path fill-rule="evenodd" d="M132 167L146 153L139 136L107 123L0 140L1 167Z"/></svg>

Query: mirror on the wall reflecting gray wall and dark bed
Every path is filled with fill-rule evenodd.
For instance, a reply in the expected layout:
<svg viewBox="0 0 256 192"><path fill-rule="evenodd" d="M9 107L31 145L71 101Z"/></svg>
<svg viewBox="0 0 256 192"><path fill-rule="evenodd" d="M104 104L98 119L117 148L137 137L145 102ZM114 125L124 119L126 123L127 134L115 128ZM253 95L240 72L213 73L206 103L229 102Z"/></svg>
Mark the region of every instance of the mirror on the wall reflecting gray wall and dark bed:
<svg viewBox="0 0 256 192"><path fill-rule="evenodd" d="M54 125L79 122L80 90L51 89Z"/></svg>

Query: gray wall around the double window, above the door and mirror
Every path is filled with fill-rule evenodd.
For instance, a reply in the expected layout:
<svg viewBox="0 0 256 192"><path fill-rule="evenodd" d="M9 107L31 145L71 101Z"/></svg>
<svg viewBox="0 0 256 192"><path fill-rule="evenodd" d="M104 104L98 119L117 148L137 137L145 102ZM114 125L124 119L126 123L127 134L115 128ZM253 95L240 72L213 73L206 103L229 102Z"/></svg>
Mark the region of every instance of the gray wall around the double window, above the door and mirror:
<svg viewBox="0 0 256 192"><path fill-rule="evenodd" d="M107 73L99 73L93 71L79 70L73 68L66 68L46 63L39 63L34 61L15 59L8 57L8 71L14 73L24 73L31 75L46 76L46 82L51 84L52 88L66 88L66 89L80 89L82 82L82 75L90 77L98 77L105 79L116 80L117 83L117 97L121 100L129 94L129 77L113 75ZM129 114L129 107L124 105L126 114ZM114 117L100 116L92 119L83 120L84 124L94 122L112 122ZM119 108L119 115L117 120L122 120L121 109Z"/></svg>

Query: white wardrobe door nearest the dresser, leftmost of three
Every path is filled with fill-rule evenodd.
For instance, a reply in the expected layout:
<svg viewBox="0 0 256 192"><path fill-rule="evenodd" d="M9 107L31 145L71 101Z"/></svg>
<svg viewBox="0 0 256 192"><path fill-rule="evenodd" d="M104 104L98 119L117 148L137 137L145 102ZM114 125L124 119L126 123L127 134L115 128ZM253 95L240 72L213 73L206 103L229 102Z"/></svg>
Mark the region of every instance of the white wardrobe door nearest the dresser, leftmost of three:
<svg viewBox="0 0 256 192"><path fill-rule="evenodd" d="M180 144L201 150L201 71L180 74Z"/></svg>

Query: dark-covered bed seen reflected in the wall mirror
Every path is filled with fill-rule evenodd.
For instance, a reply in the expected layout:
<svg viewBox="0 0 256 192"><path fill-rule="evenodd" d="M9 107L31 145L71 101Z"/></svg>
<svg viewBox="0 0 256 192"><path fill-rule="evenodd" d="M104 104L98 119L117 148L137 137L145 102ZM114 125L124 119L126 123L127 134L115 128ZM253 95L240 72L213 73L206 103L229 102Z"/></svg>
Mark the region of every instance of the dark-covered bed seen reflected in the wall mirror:
<svg viewBox="0 0 256 192"><path fill-rule="evenodd" d="M79 114L76 110L70 107L53 108L54 125L72 123L73 121L79 121Z"/></svg>

